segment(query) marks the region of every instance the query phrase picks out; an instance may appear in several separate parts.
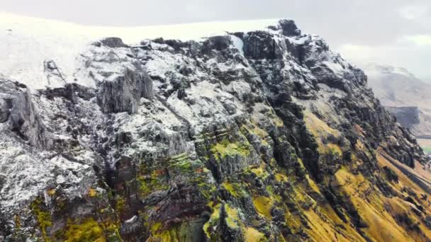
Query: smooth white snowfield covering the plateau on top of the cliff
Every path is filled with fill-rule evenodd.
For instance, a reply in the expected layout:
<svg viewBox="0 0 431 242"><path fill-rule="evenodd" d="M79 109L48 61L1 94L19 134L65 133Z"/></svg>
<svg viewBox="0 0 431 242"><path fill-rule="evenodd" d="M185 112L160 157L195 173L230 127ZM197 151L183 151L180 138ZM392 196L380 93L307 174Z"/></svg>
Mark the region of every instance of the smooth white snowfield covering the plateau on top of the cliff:
<svg viewBox="0 0 431 242"><path fill-rule="evenodd" d="M69 82L94 87L93 79L83 78L77 72L85 62L81 56L97 40L118 37L127 45L139 45L147 39L202 40L254 30L301 33L293 21L286 19L103 27L0 12L0 73L32 89L55 88ZM58 68L61 78L47 77L49 63Z"/></svg>

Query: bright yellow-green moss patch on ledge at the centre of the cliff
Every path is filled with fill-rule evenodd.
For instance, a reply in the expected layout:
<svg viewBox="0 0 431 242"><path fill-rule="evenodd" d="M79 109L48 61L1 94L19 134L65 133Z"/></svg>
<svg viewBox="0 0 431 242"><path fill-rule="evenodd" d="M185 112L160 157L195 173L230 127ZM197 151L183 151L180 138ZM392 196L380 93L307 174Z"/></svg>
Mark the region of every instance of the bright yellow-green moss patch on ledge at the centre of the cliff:
<svg viewBox="0 0 431 242"><path fill-rule="evenodd" d="M213 144L211 152L215 159L225 158L226 156L249 156L250 144L245 142L230 142L228 139L223 139L222 142Z"/></svg>

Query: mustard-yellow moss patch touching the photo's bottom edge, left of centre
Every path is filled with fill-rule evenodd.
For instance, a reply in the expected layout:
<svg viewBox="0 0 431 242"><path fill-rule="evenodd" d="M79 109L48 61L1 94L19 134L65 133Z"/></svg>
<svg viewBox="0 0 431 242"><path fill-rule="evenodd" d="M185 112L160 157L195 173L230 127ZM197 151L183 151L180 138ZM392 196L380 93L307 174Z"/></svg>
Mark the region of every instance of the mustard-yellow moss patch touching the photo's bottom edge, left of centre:
<svg viewBox="0 0 431 242"><path fill-rule="evenodd" d="M81 241L96 241L104 242L106 238L103 234L101 226L93 219L84 220L81 224L74 224L71 220L67 222L65 231L65 241L81 242Z"/></svg>

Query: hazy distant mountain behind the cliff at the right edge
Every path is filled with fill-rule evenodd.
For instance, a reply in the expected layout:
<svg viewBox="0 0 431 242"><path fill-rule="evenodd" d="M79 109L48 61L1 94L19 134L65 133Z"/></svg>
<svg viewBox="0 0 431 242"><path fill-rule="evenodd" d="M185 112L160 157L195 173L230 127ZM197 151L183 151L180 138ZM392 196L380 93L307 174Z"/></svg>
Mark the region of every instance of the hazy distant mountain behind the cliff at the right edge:
<svg viewBox="0 0 431 242"><path fill-rule="evenodd" d="M389 107L403 126L418 137L431 135L429 83L398 67L369 64L364 71L376 97Z"/></svg>

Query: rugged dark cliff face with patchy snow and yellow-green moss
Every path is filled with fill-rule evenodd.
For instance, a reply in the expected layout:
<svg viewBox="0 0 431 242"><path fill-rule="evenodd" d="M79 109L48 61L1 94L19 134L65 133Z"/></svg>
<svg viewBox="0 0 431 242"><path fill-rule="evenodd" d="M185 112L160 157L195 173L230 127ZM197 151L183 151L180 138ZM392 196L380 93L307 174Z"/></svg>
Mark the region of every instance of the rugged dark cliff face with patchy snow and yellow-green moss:
<svg viewBox="0 0 431 242"><path fill-rule="evenodd" d="M292 21L79 58L63 87L1 79L1 239L430 240L422 149Z"/></svg>

